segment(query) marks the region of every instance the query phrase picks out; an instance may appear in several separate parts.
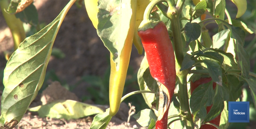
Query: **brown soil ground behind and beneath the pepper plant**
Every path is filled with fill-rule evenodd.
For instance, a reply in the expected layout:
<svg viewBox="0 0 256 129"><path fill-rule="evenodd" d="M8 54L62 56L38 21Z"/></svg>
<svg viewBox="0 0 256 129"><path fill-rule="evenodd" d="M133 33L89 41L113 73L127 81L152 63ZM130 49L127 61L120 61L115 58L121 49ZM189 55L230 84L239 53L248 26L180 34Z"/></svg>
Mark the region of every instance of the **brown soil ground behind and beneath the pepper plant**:
<svg viewBox="0 0 256 129"><path fill-rule="evenodd" d="M68 0L35 0L34 5L38 11L39 22L46 25L52 22L68 2ZM7 62L4 59L3 52L12 49L13 40L2 13L0 13L0 19L0 69L3 71ZM63 59L51 57L47 71L53 69L56 75L61 80L65 80L69 86L76 84L83 75L102 77L108 67L109 51L98 37L84 6L79 9L76 5L73 5L68 11L57 34L53 48L60 49L65 53L66 57ZM142 58L143 56L139 56L133 46L130 65L134 68L134 72L138 70ZM1 82L0 84L3 87L3 83ZM78 98L88 94L84 88L86 86L88 84L83 82L73 90ZM34 107L41 104L40 97L41 95L38 95L35 101L31 103L31 106ZM126 105L126 107L128 106ZM129 129L138 127L139 125L134 118L131 119L130 126L125 123L128 111L129 108L123 112L125 118L112 118L107 128ZM122 116L122 114L119 116ZM40 118L36 113L27 112L15 128L88 129L93 117L66 121L64 119Z"/></svg>

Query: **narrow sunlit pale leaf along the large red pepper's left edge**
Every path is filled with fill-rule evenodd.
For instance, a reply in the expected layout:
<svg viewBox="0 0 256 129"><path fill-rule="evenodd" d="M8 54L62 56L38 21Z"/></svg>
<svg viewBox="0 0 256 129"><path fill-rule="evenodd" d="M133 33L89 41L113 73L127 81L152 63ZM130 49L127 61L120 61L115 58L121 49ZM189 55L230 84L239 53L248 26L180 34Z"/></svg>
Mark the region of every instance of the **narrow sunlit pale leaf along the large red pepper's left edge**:
<svg viewBox="0 0 256 129"><path fill-rule="evenodd" d="M137 78L138 78L138 83L139 83L139 86L140 86L140 90L150 91L148 89L147 84L145 83L145 81L143 79L143 74L144 74L144 72L147 68L148 68L148 61L147 61L147 56L146 56L146 53L145 53L145 56L142 59L141 64L140 64L140 69L138 71ZM154 101L155 95L151 94L151 93L142 93L142 96L143 96L145 102L148 104L148 107L151 108L151 106L152 106L151 102Z"/></svg>

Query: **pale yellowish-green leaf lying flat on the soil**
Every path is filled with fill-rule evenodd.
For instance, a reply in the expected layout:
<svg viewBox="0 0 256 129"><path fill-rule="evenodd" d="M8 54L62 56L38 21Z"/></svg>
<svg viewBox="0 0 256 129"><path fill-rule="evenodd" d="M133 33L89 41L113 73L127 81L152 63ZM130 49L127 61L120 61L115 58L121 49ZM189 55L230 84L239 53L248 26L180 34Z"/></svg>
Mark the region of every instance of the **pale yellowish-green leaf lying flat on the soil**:
<svg viewBox="0 0 256 129"><path fill-rule="evenodd" d="M37 111L40 117L78 119L104 111L96 106L74 100L57 100L28 109Z"/></svg>

